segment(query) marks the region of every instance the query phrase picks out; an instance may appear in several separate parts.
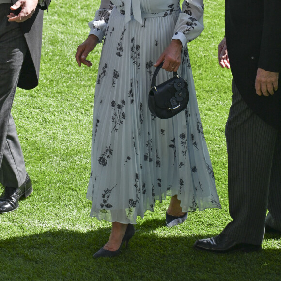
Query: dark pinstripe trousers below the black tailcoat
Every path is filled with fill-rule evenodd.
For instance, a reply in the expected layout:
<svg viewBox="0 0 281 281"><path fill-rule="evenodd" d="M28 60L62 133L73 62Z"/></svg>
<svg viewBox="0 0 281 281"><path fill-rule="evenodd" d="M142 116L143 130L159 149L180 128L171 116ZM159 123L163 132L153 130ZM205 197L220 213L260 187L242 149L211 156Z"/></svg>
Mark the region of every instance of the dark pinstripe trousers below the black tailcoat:
<svg viewBox="0 0 281 281"><path fill-rule="evenodd" d="M228 154L229 212L223 234L262 244L265 217L281 230L281 131L260 119L232 82L232 105L225 135Z"/></svg>

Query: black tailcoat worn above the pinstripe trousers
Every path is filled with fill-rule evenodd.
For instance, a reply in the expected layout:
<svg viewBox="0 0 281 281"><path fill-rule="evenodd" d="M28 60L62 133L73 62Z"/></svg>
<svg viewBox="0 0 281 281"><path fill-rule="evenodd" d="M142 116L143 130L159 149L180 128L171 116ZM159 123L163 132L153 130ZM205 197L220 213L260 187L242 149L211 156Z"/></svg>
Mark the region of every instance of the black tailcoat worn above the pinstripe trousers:
<svg viewBox="0 0 281 281"><path fill-rule="evenodd" d="M260 118L281 130L281 0L225 0L225 37L240 94ZM256 94L258 67L279 72L274 95Z"/></svg>

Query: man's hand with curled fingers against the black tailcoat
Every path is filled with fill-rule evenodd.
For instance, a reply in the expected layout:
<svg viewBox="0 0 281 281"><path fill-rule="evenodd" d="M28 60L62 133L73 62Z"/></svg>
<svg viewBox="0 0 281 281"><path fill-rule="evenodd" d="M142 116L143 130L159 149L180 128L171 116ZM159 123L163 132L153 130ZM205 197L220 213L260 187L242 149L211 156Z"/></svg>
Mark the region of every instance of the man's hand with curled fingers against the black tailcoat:
<svg viewBox="0 0 281 281"><path fill-rule="evenodd" d="M278 89L278 72L258 68L255 87L258 95L274 94L274 91Z"/></svg>

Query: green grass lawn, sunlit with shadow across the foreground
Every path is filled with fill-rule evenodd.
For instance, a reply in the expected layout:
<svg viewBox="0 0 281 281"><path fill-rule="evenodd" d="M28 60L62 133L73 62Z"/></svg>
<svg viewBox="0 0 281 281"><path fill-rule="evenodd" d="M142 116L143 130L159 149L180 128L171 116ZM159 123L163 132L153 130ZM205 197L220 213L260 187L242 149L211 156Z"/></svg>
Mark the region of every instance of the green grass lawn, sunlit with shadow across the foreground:
<svg viewBox="0 0 281 281"><path fill-rule="evenodd" d="M231 104L231 72L217 63L224 36L224 1L205 0L205 30L189 44L221 210L193 212L168 229L169 200L138 219L136 234L114 259L92 255L107 242L110 223L90 218L92 114L98 46L93 66L79 68L77 46L99 1L53 0L45 13L40 85L17 90L13 116L34 192L0 216L1 280L281 280L281 237L265 234L256 253L198 252L198 238L218 234L230 221L224 126Z"/></svg>

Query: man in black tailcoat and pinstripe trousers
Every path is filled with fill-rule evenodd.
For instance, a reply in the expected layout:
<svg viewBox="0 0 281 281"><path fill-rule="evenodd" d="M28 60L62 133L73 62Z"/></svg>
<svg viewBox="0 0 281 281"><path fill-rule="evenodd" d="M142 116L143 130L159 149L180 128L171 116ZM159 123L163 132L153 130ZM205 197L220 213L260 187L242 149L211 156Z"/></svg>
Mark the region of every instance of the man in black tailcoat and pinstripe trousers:
<svg viewBox="0 0 281 281"><path fill-rule="evenodd" d="M225 2L218 57L233 75L225 131L233 221L221 234L197 240L198 250L260 250L266 230L281 232L280 11L280 0Z"/></svg>

